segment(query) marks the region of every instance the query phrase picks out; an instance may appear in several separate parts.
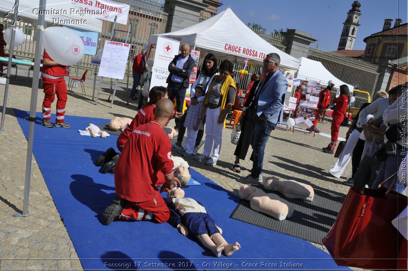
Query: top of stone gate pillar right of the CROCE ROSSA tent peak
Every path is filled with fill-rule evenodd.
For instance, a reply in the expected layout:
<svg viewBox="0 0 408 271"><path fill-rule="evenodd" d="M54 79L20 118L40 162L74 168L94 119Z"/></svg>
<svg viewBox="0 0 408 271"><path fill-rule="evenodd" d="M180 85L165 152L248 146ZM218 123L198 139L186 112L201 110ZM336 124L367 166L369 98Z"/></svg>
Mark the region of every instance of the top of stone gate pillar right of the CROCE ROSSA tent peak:
<svg viewBox="0 0 408 271"><path fill-rule="evenodd" d="M285 53L294 58L301 58L302 56L307 58L310 43L316 41L312 38L312 34L297 29L288 29L287 32L281 32L281 34L287 42Z"/></svg>

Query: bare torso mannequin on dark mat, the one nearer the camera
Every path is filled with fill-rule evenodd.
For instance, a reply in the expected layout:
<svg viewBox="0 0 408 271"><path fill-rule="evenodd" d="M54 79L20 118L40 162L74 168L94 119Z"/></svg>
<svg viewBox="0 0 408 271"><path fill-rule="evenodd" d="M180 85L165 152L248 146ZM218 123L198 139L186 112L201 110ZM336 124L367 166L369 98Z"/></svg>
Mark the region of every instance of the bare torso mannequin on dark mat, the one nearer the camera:
<svg viewBox="0 0 408 271"><path fill-rule="evenodd" d="M280 198L275 194L255 193L255 187L251 184L243 184L239 188L239 198L250 201L251 209L277 219L290 218L295 211L293 203Z"/></svg>

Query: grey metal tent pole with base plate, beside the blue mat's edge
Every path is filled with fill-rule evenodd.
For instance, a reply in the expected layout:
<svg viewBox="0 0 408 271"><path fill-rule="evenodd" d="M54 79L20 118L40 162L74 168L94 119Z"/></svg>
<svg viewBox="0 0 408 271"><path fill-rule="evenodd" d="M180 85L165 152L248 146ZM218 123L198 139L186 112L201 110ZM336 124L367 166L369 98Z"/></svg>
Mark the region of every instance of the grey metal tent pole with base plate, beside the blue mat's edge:
<svg viewBox="0 0 408 271"><path fill-rule="evenodd" d="M18 1L18 0L17 0ZM45 10L47 0L40 0L39 10ZM38 25L44 25L45 15L38 14ZM13 216L26 217L29 216L28 202L30 192L30 178L31 178L31 162L33 159L33 142L34 142L34 124L35 124L35 110L37 108L37 93L38 93L38 77L40 76L40 61L42 51L42 30L37 30L37 38L35 40L35 60L33 71L33 84L31 87L31 104L30 104L30 116L26 117L29 120L29 132L28 132L28 146L27 146L27 162L26 162L26 174L24 183L24 202L22 213L16 213Z"/></svg>

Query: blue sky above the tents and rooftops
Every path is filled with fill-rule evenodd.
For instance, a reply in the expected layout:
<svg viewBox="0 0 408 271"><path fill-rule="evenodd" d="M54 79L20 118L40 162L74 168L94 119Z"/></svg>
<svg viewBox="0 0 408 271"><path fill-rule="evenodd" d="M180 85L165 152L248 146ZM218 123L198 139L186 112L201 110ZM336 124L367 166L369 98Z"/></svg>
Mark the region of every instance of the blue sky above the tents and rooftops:
<svg viewBox="0 0 408 271"><path fill-rule="evenodd" d="M260 24L267 31L274 29L298 29L312 34L318 41L313 47L326 51L337 51L343 22L354 0L220 0L218 13L232 9L242 22ZM359 0L360 26L353 50L364 50L364 38L382 31L384 19L402 19L408 22L407 0ZM250 4L251 3L251 4Z"/></svg>

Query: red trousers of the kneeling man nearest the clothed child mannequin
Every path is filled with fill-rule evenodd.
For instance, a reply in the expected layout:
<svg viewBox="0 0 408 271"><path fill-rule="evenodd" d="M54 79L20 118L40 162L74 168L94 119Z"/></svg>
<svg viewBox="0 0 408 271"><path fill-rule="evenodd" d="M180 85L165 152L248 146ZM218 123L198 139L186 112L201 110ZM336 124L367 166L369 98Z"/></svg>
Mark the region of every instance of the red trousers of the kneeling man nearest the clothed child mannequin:
<svg viewBox="0 0 408 271"><path fill-rule="evenodd" d="M153 200L144 202L130 202L126 204L120 218L131 221L156 220L166 222L170 218L170 210L162 196L157 193Z"/></svg>

